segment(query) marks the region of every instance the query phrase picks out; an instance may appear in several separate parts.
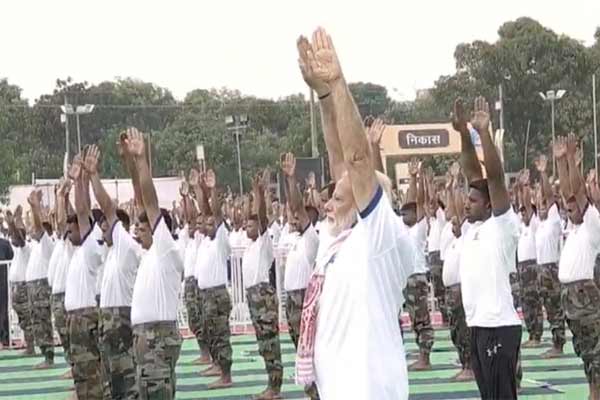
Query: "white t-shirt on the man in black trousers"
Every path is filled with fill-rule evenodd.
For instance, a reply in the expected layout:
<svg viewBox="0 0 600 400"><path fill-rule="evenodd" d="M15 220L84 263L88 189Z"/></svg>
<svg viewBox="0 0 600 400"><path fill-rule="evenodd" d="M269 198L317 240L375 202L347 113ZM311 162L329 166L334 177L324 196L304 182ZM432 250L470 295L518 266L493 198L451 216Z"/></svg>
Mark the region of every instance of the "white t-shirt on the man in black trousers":
<svg viewBox="0 0 600 400"><path fill-rule="evenodd" d="M513 306L509 275L516 272L519 217L512 207L471 224L461 236L460 282L467 325L521 325Z"/></svg>

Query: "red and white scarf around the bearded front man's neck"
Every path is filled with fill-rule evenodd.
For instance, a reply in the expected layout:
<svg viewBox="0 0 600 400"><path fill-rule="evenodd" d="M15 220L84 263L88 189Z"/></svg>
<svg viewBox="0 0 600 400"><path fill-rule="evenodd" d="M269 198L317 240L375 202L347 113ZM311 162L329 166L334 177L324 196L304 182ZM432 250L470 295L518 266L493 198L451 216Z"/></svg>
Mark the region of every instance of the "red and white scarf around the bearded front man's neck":
<svg viewBox="0 0 600 400"><path fill-rule="evenodd" d="M325 272L329 264L333 262L340 247L350 236L352 229L347 229L340 233L329 245L323 256L326 263L319 265L313 271L306 295L304 296L304 305L302 307L302 320L300 322L300 339L298 342L298 352L296 353L296 384L310 385L315 380L315 337L317 334L317 318L319 314L319 298L323 293L323 284L325 283Z"/></svg>

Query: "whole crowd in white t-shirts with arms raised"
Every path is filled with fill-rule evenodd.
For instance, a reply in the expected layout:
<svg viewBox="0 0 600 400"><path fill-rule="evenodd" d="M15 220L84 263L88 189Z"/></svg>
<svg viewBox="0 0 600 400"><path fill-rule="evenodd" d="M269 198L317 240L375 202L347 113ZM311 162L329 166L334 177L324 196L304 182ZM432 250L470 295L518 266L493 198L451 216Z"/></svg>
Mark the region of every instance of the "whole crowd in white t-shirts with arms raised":
<svg viewBox="0 0 600 400"><path fill-rule="evenodd" d="M167 211L144 136L130 128L117 143L135 193L128 204L116 204L103 187L92 145L56 186L52 210L34 190L29 218L22 206L5 211L12 307L25 354L35 345L44 356L35 368L53 365L55 329L74 398L174 398L181 296L199 347L194 362L204 365L201 376L215 377L207 389L231 387L228 261L232 248L243 248L242 281L268 376L255 398L281 398L281 299L270 271L274 247L284 246L294 376L311 399L408 398L407 371L432 368L431 296L462 366L453 379L475 380L483 399L517 398L521 347L541 346L544 309L553 346L542 357L563 354L568 325L590 398L600 399L600 189L596 171L582 175L577 138L553 144L557 177L540 155L533 173L505 182L488 103L475 99L468 118L459 99L452 112L459 162L435 177L426 159L411 160L400 195L383 173L385 125L362 120L331 37L319 28L297 48L302 77L320 102L331 175L324 188L314 177L299 182L288 153L278 166L281 205L269 170L234 197L212 170L192 168ZM419 348L409 366L403 305ZM519 307L529 334L523 344Z"/></svg>

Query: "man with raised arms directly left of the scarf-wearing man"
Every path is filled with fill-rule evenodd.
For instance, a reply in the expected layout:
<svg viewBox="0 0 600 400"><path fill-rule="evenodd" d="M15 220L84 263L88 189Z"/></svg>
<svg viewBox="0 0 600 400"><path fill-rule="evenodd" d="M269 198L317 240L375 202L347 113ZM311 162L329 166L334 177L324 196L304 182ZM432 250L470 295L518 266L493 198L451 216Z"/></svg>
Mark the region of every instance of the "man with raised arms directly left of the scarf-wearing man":
<svg viewBox="0 0 600 400"><path fill-rule="evenodd" d="M296 159L288 153L282 160L281 169L285 175L285 190L288 198L290 217L288 223L298 233L287 254L283 287L286 292L285 302L288 331L294 347L298 349L300 321L304 296L310 275L319 249L319 236L309 220L302 194L296 182Z"/></svg>

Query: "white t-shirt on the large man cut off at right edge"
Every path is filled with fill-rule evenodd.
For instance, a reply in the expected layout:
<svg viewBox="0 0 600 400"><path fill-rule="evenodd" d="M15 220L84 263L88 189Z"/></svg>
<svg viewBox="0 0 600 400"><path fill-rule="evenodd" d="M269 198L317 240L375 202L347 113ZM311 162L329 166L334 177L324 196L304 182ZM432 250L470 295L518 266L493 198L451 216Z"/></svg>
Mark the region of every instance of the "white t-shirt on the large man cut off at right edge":
<svg viewBox="0 0 600 400"><path fill-rule="evenodd" d="M565 242L558 279L561 283L594 278L594 263L600 249L600 213L589 205L581 225L573 225Z"/></svg>

